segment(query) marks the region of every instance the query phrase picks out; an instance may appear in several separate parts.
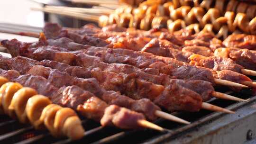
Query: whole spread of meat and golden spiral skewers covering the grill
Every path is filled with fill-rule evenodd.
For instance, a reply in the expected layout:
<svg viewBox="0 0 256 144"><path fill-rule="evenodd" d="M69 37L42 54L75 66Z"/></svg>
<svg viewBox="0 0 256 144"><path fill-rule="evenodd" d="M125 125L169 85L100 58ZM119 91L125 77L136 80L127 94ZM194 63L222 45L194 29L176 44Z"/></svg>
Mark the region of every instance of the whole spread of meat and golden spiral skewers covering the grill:
<svg viewBox="0 0 256 144"><path fill-rule="evenodd" d="M84 135L75 111L160 131L159 117L189 124L166 112L234 113L207 101L247 101L216 86L256 88L255 15L236 0L147 0L102 16L102 28L47 23L37 42L2 40L12 58L0 55L0 112L73 140Z"/></svg>

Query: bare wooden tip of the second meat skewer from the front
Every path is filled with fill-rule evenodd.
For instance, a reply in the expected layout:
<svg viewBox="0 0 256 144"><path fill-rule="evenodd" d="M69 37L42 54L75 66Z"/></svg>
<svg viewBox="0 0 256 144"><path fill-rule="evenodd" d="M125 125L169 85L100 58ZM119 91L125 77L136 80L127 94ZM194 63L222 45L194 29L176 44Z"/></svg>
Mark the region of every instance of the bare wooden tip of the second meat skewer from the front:
<svg viewBox="0 0 256 144"><path fill-rule="evenodd" d="M188 122L184 119L181 119L179 117L175 117L175 116L173 116L171 114L168 114L168 113L165 113L161 110L156 110L155 111L155 116L162 117L162 118L165 118L167 120L175 121L175 122L178 122L178 123L183 123L183 124L187 124L187 125L190 124L190 122Z"/></svg>

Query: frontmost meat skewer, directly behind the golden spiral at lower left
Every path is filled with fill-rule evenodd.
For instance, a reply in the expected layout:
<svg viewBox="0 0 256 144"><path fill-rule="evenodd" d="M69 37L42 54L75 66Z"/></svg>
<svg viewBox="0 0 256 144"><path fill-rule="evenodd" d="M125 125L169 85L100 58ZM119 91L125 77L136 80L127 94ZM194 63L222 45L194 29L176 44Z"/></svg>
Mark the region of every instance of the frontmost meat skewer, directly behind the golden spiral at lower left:
<svg viewBox="0 0 256 144"><path fill-rule="evenodd" d="M82 116L101 121L102 126L117 126L124 129L148 127L165 131L164 128L146 121L142 114L116 105L108 105L89 91L82 90L77 86L58 89L44 77L30 74L20 75L15 70L5 71L0 69L0 76L37 90L39 94L46 95L55 104L75 109ZM126 117L122 115L126 115ZM129 121L127 121L127 117L129 117Z"/></svg>

